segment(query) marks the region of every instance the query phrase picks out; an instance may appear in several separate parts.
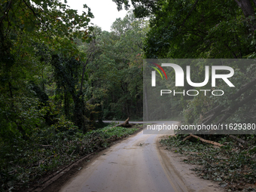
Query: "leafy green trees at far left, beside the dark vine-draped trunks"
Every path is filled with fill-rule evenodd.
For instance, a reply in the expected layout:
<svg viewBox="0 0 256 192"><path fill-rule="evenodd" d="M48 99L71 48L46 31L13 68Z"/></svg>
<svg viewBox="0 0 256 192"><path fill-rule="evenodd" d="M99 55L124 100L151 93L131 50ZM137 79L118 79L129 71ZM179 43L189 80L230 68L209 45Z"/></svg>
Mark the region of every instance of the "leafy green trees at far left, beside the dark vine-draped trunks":
<svg viewBox="0 0 256 192"><path fill-rule="evenodd" d="M47 105L44 76L50 53L84 59L74 38L88 38L93 15L90 8L78 15L57 0L3 1L0 10L1 132L27 137L44 116L35 98Z"/></svg>

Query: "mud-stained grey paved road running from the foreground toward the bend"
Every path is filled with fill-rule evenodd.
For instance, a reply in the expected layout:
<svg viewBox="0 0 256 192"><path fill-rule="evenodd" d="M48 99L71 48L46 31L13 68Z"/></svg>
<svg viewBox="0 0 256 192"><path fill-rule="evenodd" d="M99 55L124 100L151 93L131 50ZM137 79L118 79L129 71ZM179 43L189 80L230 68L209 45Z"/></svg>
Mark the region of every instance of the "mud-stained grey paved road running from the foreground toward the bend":
<svg viewBox="0 0 256 192"><path fill-rule="evenodd" d="M159 150L160 136L163 135L143 134L142 131L111 146L60 191L196 191L185 186L175 167L169 165L169 158Z"/></svg>

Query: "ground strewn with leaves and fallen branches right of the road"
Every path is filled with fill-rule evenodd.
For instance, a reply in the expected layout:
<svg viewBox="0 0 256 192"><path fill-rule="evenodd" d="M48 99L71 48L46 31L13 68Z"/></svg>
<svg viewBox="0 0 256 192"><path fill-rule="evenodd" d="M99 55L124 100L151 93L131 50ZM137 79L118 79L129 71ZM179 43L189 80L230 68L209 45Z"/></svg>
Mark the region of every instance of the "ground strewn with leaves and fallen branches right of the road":
<svg viewBox="0 0 256 192"><path fill-rule="evenodd" d="M187 157L184 163L194 165L192 169L203 179L218 181L227 191L256 190L256 142L254 135L239 136L243 143L229 136L205 136L206 139L224 146L218 147L200 142L198 139L185 140L187 135L170 136L161 144L174 153Z"/></svg>

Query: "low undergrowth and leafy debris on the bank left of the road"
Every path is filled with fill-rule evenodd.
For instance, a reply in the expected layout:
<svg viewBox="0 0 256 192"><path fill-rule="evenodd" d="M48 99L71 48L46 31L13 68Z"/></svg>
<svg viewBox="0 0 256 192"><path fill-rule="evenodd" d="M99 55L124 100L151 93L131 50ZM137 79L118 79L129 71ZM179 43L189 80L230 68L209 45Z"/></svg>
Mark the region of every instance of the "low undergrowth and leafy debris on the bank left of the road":
<svg viewBox="0 0 256 192"><path fill-rule="evenodd" d="M83 133L72 122L62 120L61 123L35 129L29 140L18 137L10 145L2 143L1 191L29 187L47 173L58 171L94 151L108 148L111 142L130 136L137 130L110 124Z"/></svg>

